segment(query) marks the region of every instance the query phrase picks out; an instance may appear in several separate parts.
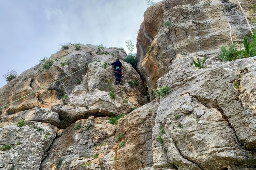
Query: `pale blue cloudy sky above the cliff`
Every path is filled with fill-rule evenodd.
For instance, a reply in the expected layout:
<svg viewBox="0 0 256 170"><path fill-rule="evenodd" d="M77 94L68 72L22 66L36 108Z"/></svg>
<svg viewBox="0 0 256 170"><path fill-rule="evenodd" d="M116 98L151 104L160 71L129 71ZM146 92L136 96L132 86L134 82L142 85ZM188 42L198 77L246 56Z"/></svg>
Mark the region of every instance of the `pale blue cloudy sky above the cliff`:
<svg viewBox="0 0 256 170"><path fill-rule="evenodd" d="M62 43L102 42L129 53L125 40L131 40L136 52L147 7L146 0L1 0L0 88L7 71L22 73Z"/></svg>

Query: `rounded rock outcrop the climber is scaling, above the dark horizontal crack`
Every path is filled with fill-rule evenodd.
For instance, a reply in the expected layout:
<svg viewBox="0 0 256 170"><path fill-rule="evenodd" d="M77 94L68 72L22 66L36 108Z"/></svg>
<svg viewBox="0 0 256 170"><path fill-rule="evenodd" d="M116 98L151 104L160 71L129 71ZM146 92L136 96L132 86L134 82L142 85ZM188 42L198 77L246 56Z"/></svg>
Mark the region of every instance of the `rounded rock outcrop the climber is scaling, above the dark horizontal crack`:
<svg viewBox="0 0 256 170"><path fill-rule="evenodd" d="M113 85L115 76L110 64L115 61L116 57L119 57L124 65L123 86ZM92 45L81 45L80 50L75 50L73 45L69 45L69 49L60 50L49 58L54 63L48 70L42 69L44 62L41 62L2 87L0 104L2 106L8 104L86 65L88 67L6 106L1 110L0 118L6 121L8 117L9 121L9 118L13 119L13 116L9 115L21 111L35 107L49 108L58 113L60 119L60 122L55 121L52 124L67 128L77 120L89 116L126 114L132 108L144 105L148 100L145 85L139 74L130 64L122 61L124 57L126 57L125 51L119 48L101 49ZM61 62L66 65L62 66ZM139 85L131 88L127 82L135 80L139 82ZM115 91L115 100L109 95L110 90ZM126 104L124 100L127 100ZM18 113L18 115L23 115L23 113Z"/></svg>

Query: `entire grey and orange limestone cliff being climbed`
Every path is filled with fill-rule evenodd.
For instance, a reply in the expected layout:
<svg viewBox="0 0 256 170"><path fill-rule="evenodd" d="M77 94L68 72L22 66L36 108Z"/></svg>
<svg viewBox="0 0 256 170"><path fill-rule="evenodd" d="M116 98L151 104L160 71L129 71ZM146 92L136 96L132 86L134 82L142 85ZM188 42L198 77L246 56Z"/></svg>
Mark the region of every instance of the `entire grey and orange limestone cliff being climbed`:
<svg viewBox="0 0 256 170"><path fill-rule="evenodd" d="M227 14L234 41L250 31L236 0L204 3L165 0L146 10L137 37L143 80L119 48L69 45L49 58L49 70L41 62L2 87L5 105L85 67L0 111L0 169L256 169L256 56L217 57L231 43ZM254 29L253 3L241 1ZM192 60L204 54L205 68L196 69ZM123 85L113 84L116 57ZM156 97L164 86L172 92Z"/></svg>

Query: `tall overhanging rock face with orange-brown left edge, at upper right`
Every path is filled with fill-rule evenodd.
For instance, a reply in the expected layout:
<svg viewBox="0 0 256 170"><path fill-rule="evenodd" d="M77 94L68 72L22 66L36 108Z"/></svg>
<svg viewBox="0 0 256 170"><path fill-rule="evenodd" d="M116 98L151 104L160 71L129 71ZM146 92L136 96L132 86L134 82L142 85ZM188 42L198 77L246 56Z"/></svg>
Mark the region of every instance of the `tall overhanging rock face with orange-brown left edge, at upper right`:
<svg viewBox="0 0 256 170"><path fill-rule="evenodd" d="M201 56L212 56L219 52L220 46L231 43L227 12L236 36L233 40L242 40L250 33L236 0L212 0L210 5L204 3L203 0L165 0L150 6L144 13L137 37L137 69L144 81L150 83L151 100L155 98L152 89L156 88L156 81L170 71L169 66L178 54L200 51ZM241 3L250 19L253 1ZM165 26L166 22L171 26ZM253 28L256 26L250 23Z"/></svg>

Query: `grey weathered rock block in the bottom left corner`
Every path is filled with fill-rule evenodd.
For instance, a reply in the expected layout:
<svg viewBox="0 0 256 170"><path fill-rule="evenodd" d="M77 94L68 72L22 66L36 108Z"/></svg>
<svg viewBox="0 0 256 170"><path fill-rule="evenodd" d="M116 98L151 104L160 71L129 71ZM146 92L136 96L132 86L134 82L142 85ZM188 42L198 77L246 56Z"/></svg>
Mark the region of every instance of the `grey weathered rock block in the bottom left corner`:
<svg viewBox="0 0 256 170"><path fill-rule="evenodd" d="M9 150L0 151L0 169L39 169L46 150L56 137L57 128L48 123L29 123L30 126L12 124L0 128L0 146L11 146Z"/></svg>

